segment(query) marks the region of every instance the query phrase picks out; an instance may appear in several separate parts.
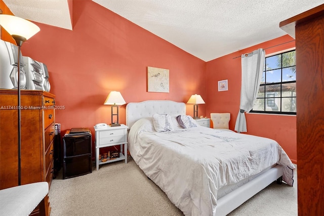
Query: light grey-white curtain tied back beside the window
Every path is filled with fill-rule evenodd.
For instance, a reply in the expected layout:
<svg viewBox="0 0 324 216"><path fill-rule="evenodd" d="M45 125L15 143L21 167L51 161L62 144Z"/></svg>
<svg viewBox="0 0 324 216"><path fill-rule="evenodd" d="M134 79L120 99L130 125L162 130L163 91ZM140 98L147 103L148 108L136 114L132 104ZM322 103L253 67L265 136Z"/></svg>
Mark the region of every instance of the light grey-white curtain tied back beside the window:
<svg viewBox="0 0 324 216"><path fill-rule="evenodd" d="M257 97L262 71L264 67L265 51L258 49L253 53L241 56L242 84L239 112L236 118L235 131L247 132L247 120L245 112L253 109Z"/></svg>

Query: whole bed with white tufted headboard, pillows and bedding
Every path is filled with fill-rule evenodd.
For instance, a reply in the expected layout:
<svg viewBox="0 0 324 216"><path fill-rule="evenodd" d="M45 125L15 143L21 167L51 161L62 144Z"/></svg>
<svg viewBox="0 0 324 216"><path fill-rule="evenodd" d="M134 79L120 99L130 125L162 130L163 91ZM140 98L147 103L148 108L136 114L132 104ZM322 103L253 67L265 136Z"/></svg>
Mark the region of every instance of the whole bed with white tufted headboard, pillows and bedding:
<svg viewBox="0 0 324 216"><path fill-rule="evenodd" d="M126 106L131 156L185 215L226 215L274 181L293 186L295 166L276 141L190 118L182 102Z"/></svg>

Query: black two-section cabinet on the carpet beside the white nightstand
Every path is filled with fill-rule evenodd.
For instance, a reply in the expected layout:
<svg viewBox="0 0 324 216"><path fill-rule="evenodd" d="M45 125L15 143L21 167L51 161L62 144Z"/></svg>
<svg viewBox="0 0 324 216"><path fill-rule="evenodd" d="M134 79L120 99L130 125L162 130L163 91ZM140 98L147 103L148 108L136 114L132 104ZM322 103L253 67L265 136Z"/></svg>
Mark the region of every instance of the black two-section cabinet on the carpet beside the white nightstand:
<svg viewBox="0 0 324 216"><path fill-rule="evenodd" d="M63 179L92 172L91 133L70 134L63 137Z"/></svg>

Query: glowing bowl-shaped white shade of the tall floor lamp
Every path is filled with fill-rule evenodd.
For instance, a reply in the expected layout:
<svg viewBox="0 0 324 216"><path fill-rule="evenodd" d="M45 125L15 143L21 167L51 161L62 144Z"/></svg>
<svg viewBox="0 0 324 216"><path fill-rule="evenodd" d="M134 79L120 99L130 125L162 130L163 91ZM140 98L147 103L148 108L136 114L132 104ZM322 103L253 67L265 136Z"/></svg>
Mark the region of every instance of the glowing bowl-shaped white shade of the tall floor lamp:
<svg viewBox="0 0 324 216"><path fill-rule="evenodd" d="M41 30L34 23L20 17L0 14L0 25L11 35L19 35L26 40Z"/></svg>

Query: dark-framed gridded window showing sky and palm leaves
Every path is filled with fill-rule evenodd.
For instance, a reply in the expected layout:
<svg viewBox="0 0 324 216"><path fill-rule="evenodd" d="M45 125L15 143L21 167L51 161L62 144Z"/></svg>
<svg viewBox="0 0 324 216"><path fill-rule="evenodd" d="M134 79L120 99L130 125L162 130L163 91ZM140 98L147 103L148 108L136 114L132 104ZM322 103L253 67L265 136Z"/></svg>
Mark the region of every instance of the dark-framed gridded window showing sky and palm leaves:
<svg viewBox="0 0 324 216"><path fill-rule="evenodd" d="M264 65L251 113L296 115L296 51L266 57Z"/></svg>

